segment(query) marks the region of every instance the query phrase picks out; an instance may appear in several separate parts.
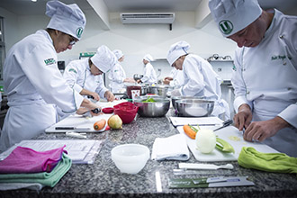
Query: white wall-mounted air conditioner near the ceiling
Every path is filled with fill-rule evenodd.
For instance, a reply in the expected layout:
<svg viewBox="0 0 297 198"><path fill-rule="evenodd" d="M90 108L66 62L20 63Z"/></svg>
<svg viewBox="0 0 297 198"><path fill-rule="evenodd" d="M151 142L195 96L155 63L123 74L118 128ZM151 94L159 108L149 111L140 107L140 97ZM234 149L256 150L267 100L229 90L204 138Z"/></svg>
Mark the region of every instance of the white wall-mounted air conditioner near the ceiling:
<svg viewBox="0 0 297 198"><path fill-rule="evenodd" d="M167 23L175 21L174 13L125 13L121 14L121 23Z"/></svg>

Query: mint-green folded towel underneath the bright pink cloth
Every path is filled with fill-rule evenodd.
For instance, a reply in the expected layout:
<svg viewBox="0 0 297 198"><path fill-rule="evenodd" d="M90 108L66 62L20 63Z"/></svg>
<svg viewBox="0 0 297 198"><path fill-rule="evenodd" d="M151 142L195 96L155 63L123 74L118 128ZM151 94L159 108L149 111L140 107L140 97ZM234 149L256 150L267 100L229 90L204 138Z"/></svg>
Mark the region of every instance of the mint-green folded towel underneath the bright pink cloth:
<svg viewBox="0 0 297 198"><path fill-rule="evenodd" d="M40 183L54 187L72 165L71 158L63 153L58 165L50 172L32 174L0 174L0 183Z"/></svg>

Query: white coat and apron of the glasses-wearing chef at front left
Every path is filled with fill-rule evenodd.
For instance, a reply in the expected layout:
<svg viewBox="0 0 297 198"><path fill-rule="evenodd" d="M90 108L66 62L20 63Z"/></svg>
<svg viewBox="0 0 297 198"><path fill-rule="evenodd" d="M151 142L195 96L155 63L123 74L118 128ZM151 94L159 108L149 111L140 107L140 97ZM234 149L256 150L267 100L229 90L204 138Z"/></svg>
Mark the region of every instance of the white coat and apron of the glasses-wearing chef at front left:
<svg viewBox="0 0 297 198"><path fill-rule="evenodd" d="M6 113L0 150L44 132L56 123L56 105L76 112L83 97L66 85L49 33L37 31L16 43L4 62Z"/></svg>

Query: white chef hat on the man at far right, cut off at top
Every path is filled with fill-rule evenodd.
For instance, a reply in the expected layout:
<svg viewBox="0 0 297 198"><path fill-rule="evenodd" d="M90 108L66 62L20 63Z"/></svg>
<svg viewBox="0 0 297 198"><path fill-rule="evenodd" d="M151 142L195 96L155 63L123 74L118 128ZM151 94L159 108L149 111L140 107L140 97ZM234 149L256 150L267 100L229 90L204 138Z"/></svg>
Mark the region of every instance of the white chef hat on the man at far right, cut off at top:
<svg viewBox="0 0 297 198"><path fill-rule="evenodd" d="M246 28L262 14L257 0L210 0L209 7L224 37Z"/></svg>

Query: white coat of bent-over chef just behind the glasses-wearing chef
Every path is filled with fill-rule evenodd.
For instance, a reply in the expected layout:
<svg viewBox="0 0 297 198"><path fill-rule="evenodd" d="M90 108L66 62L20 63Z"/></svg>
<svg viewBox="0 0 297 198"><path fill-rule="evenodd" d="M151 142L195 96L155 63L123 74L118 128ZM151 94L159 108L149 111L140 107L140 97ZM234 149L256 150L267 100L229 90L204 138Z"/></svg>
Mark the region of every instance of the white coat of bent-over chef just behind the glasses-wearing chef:
<svg viewBox="0 0 297 198"><path fill-rule="evenodd" d="M65 68L63 76L67 81L67 85L73 87L78 93L86 89L104 98L105 92L108 91L104 85L102 75L94 76L91 73L88 58L71 61Z"/></svg>

